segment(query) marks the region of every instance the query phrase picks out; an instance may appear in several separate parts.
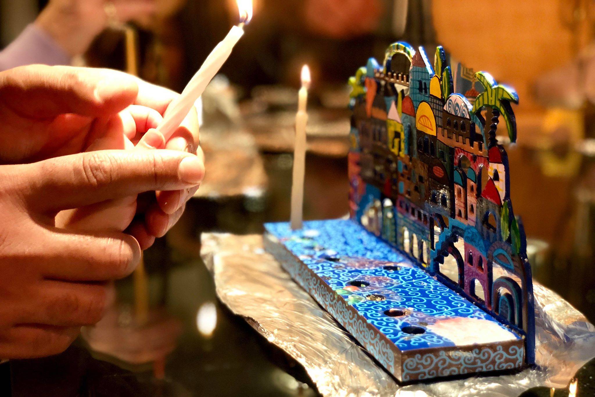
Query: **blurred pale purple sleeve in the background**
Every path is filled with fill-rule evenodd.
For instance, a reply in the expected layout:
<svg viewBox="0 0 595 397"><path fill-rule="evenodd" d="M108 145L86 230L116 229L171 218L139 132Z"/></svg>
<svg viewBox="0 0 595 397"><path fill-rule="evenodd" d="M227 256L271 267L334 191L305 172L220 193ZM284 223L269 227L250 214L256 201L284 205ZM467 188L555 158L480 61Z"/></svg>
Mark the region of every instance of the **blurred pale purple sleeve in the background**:
<svg viewBox="0 0 595 397"><path fill-rule="evenodd" d="M0 51L0 71L31 64L70 65L71 58L42 29L29 24L23 33Z"/></svg>

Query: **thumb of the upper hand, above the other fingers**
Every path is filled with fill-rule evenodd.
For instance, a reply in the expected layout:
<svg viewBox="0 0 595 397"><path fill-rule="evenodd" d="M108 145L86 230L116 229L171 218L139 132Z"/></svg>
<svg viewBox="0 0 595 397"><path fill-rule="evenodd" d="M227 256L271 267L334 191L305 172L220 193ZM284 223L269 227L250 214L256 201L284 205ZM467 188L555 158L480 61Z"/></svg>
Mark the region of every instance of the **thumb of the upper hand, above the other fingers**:
<svg viewBox="0 0 595 397"><path fill-rule="evenodd" d="M0 97L21 116L115 114L138 95L136 77L109 69L29 65L0 73Z"/></svg>

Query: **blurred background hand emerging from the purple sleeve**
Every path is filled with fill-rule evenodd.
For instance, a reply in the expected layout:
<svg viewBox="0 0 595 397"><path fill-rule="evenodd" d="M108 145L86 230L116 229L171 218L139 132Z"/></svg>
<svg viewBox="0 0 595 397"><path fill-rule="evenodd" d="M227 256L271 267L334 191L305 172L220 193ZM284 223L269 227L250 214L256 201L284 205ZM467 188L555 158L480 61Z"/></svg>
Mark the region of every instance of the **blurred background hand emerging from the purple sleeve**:
<svg viewBox="0 0 595 397"><path fill-rule="evenodd" d="M110 17L115 18L112 22L146 23L154 13L154 0L50 0L35 23L74 56L89 48Z"/></svg>

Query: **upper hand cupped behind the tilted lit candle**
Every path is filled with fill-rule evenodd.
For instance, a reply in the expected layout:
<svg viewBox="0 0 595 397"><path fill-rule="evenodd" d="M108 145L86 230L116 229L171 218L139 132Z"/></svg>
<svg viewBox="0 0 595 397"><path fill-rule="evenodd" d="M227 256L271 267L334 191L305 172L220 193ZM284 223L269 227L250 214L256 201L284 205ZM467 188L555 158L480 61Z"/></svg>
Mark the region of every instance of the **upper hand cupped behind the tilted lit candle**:
<svg viewBox="0 0 595 397"><path fill-rule="evenodd" d="M179 95L126 73L106 69L31 65L0 73L0 163L32 162L94 148L124 148L161 121ZM152 139L147 139L152 137ZM155 148L163 137L149 132ZM198 154L196 110L165 148ZM184 191L146 193L129 232L148 248L180 217L198 186Z"/></svg>

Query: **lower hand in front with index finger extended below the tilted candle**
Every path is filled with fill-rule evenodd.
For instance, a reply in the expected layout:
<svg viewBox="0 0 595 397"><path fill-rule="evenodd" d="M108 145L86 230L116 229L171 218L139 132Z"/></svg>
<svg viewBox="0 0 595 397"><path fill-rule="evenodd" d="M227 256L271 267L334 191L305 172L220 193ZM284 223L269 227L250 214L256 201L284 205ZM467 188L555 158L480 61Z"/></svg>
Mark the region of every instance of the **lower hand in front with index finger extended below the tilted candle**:
<svg viewBox="0 0 595 397"><path fill-rule="evenodd" d="M181 151L96 151L0 165L0 358L57 354L108 304L108 282L136 267L121 232L71 232L62 210L195 186L202 161Z"/></svg>

